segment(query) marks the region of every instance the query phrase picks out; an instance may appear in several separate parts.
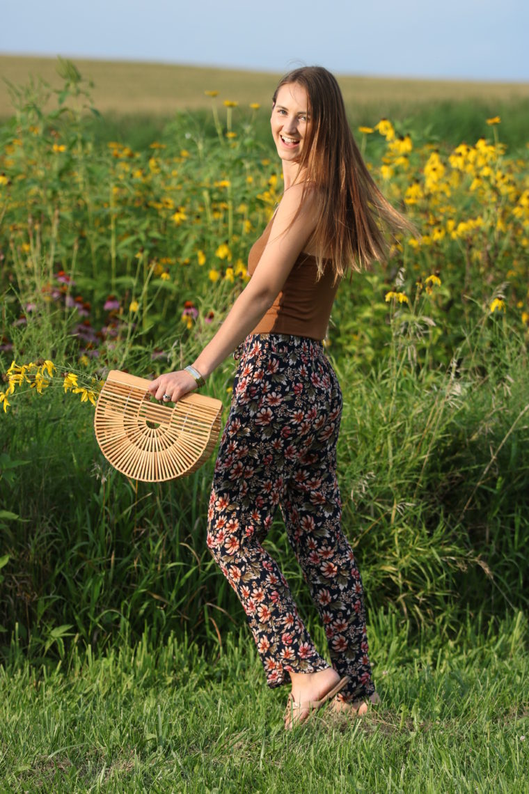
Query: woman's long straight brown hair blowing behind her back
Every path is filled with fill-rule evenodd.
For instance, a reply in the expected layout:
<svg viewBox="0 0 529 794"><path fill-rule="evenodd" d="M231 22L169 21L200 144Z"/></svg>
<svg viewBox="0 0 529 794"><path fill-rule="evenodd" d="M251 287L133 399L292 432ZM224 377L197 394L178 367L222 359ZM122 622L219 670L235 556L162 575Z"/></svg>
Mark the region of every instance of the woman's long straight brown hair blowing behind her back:
<svg viewBox="0 0 529 794"><path fill-rule="evenodd" d="M321 66L306 66L285 75L275 90L290 83L305 88L312 125L301 150L305 189L316 185L320 211L311 241L316 249L318 279L324 257L332 259L335 279L361 270L389 252L387 233L413 225L381 194L370 176L347 121L342 92L334 75Z"/></svg>

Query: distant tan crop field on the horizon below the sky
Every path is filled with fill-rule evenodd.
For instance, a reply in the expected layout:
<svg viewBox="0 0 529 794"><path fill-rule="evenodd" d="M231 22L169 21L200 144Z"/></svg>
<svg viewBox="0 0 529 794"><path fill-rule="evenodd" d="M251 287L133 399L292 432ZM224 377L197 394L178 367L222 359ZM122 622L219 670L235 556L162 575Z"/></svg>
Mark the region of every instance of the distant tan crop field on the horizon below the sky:
<svg viewBox="0 0 529 794"><path fill-rule="evenodd" d="M281 76L257 71L173 64L127 63L73 59L82 76L94 83L94 104L102 112L159 114L196 110L209 106L205 91L218 91L221 98L240 104L270 103L270 95ZM61 80L54 58L0 56L0 117L10 116L13 106L6 80L15 85L30 77L42 78L52 87ZM470 83L456 80L397 79L339 75L348 109L355 105L416 105L435 101L509 102L529 98L529 83Z"/></svg>

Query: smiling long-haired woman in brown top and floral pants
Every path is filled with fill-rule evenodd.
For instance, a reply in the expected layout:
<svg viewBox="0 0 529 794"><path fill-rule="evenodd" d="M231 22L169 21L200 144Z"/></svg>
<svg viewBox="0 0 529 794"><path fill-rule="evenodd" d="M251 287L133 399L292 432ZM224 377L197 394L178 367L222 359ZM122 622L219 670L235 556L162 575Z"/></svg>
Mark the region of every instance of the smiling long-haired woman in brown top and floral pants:
<svg viewBox="0 0 529 794"><path fill-rule="evenodd" d="M251 279L192 366L159 376L150 391L176 401L237 348L207 542L246 611L267 683L291 682L290 728L332 698L335 710L355 713L378 700L362 580L340 526L335 449L342 395L321 341L339 281L385 257L380 223L391 230L409 225L370 178L327 70L286 75L270 123L284 192L251 249ZM324 622L332 666L263 549L277 507Z"/></svg>

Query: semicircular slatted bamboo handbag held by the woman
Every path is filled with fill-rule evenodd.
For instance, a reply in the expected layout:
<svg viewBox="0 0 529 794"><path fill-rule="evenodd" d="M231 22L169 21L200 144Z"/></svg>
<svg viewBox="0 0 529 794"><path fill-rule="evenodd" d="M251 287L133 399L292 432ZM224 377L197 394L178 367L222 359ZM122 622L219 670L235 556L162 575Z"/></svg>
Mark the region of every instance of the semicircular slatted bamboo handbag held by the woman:
<svg viewBox="0 0 529 794"><path fill-rule="evenodd" d="M163 482L195 472L220 434L219 399L185 395L174 407L152 402L150 380L113 369L95 407L95 437L105 458L134 480Z"/></svg>

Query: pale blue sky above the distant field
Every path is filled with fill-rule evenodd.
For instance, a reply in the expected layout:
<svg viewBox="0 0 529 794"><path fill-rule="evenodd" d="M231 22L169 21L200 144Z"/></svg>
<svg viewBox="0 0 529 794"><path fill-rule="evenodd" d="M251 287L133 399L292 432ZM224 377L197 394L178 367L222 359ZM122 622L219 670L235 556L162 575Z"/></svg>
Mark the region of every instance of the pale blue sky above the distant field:
<svg viewBox="0 0 529 794"><path fill-rule="evenodd" d="M0 0L0 52L529 82L527 0Z"/></svg>

